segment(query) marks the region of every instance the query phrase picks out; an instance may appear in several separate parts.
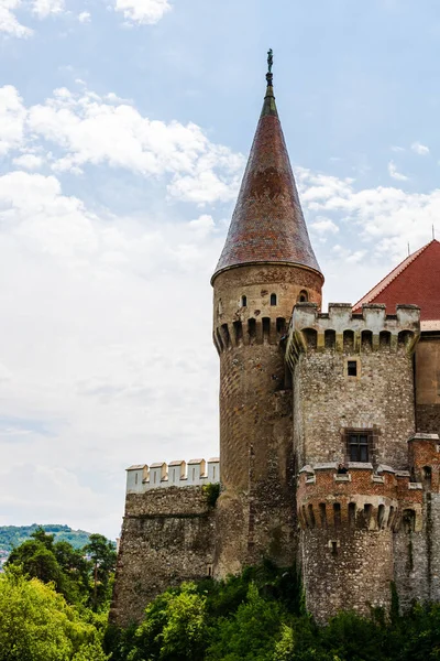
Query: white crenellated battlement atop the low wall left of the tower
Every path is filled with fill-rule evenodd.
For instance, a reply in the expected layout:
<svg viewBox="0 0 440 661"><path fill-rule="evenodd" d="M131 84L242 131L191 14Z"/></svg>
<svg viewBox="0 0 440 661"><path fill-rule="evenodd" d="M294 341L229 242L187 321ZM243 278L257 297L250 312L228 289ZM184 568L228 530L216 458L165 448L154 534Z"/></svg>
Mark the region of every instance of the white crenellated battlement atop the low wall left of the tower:
<svg viewBox="0 0 440 661"><path fill-rule="evenodd" d="M127 468L127 494L144 494L151 489L166 487L195 487L220 481L220 459L158 462L138 464Z"/></svg>

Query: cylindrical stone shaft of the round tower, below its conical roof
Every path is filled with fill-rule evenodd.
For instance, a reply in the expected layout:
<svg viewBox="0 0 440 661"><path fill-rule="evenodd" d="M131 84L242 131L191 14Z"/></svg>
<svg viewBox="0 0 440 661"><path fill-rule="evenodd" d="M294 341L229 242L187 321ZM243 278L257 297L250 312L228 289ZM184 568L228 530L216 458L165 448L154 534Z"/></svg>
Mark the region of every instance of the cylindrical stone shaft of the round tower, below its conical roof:
<svg viewBox="0 0 440 661"><path fill-rule="evenodd" d="M215 575L263 556L295 553L292 391L284 337L295 302L320 304L322 277L283 264L254 264L215 278L213 339L220 355L222 494L217 507Z"/></svg>

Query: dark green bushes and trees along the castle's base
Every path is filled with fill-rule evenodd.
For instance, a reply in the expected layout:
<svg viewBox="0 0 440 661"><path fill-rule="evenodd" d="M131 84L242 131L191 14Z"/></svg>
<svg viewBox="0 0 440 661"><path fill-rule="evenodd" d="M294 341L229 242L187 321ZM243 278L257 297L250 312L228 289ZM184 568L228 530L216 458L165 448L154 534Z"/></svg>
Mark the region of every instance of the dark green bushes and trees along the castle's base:
<svg viewBox="0 0 440 661"><path fill-rule="evenodd" d="M152 602L139 627L109 628L112 661L440 661L440 605L387 617L340 613L318 626L295 568L271 563L227 581L187 583Z"/></svg>

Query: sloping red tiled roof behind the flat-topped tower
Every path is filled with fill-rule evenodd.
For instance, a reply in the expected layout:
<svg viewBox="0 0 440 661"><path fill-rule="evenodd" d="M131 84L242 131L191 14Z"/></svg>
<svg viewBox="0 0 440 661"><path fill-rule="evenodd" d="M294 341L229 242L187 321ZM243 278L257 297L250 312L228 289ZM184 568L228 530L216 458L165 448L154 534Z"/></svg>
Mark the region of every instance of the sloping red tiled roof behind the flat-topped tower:
<svg viewBox="0 0 440 661"><path fill-rule="evenodd" d="M381 280L354 306L359 312L365 303L385 303L394 314L397 304L420 307L421 321L440 319L440 242L433 239L407 257Z"/></svg>

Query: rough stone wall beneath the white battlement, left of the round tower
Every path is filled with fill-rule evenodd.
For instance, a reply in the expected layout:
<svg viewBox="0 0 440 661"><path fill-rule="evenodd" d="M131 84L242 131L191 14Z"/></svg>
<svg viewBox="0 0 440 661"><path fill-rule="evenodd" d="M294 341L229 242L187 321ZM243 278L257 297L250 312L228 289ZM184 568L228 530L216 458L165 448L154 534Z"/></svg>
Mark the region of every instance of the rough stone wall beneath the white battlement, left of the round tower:
<svg viewBox="0 0 440 661"><path fill-rule="evenodd" d="M213 509L201 487L128 494L110 621L140 621L167 587L211 573Z"/></svg>

